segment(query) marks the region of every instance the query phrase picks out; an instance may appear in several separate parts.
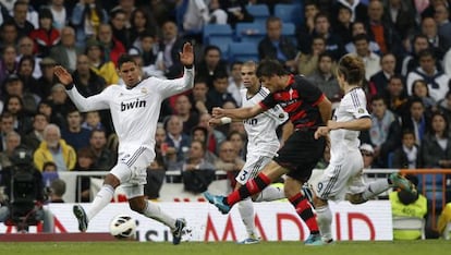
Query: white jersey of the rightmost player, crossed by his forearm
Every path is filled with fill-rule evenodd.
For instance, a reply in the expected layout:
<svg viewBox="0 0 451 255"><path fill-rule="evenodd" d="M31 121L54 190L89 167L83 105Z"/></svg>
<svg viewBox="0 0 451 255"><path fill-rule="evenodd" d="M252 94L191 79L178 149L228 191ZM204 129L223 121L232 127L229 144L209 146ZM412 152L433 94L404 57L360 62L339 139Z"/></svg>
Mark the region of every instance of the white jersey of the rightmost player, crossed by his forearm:
<svg viewBox="0 0 451 255"><path fill-rule="evenodd" d="M368 117L366 110L366 96L362 88L354 88L341 99L339 107L333 113L333 120L337 122L352 121L363 117ZM330 161L337 162L346 158L350 150L358 150L359 131L353 130L332 130L330 131Z"/></svg>

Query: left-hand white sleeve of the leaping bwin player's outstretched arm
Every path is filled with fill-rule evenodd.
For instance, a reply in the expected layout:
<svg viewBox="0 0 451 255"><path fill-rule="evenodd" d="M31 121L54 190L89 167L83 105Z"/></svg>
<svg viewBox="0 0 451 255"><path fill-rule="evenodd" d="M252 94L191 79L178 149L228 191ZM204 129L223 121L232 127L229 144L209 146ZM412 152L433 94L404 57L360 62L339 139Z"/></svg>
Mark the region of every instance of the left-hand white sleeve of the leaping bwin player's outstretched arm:
<svg viewBox="0 0 451 255"><path fill-rule="evenodd" d="M82 112L86 112L109 109L109 100L115 98L112 95L114 86L118 85L108 86L101 93L90 97L82 96L75 86L65 92L68 93L68 96L72 99L72 101L75 104L76 108Z"/></svg>

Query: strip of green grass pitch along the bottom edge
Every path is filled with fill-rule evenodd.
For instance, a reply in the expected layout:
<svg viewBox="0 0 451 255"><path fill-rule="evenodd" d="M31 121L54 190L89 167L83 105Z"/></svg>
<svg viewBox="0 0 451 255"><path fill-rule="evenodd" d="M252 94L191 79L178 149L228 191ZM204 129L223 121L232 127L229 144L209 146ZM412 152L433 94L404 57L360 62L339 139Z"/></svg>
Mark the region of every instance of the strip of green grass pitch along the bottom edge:
<svg viewBox="0 0 451 255"><path fill-rule="evenodd" d="M302 242L264 242L240 245L232 242L39 242L0 243L1 255L435 255L449 254L451 241L337 242L305 246Z"/></svg>

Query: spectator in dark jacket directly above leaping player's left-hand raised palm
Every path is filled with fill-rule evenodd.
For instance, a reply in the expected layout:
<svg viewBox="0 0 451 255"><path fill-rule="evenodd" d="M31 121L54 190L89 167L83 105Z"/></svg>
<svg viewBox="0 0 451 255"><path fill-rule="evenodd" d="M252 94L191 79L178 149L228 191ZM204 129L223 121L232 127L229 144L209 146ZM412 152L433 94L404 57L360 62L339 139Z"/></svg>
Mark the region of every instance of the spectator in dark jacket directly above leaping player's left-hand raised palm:
<svg viewBox="0 0 451 255"><path fill-rule="evenodd" d="M75 46L75 31L70 26L61 29L61 42L50 50L50 58L70 72L76 68L77 56L83 53L83 47Z"/></svg>

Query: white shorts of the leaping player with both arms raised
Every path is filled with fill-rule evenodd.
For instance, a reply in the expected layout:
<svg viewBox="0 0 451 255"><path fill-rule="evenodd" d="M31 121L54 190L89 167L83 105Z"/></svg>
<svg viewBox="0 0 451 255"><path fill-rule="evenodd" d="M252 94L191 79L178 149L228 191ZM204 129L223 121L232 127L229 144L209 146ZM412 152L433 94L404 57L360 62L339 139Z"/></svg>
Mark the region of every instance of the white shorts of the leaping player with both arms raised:
<svg viewBox="0 0 451 255"><path fill-rule="evenodd" d="M119 154L118 163L110 173L120 180L121 189L129 199L144 195L144 184L147 183L147 167L154 158L155 151L146 147Z"/></svg>

